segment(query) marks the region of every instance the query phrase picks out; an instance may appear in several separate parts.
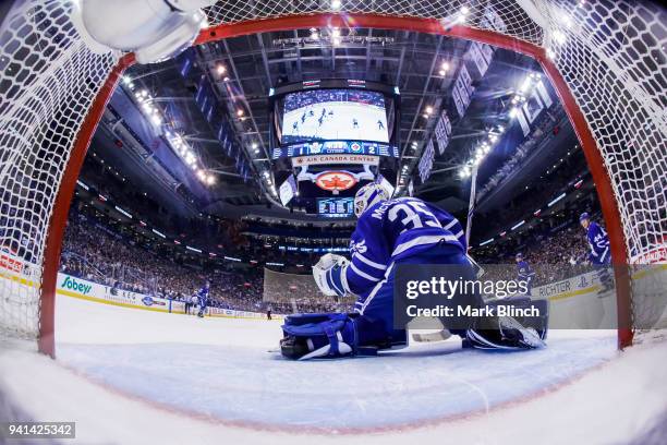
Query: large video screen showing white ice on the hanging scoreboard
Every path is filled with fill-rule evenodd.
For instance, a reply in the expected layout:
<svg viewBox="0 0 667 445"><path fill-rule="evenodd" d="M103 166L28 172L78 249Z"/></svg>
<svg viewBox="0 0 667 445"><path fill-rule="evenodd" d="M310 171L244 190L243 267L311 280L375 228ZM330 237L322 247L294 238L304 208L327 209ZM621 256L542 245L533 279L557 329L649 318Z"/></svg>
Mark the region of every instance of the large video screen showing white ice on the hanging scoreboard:
<svg viewBox="0 0 667 445"><path fill-rule="evenodd" d="M283 145L315 140L389 143L385 96L356 89L315 89L284 97Z"/></svg>

